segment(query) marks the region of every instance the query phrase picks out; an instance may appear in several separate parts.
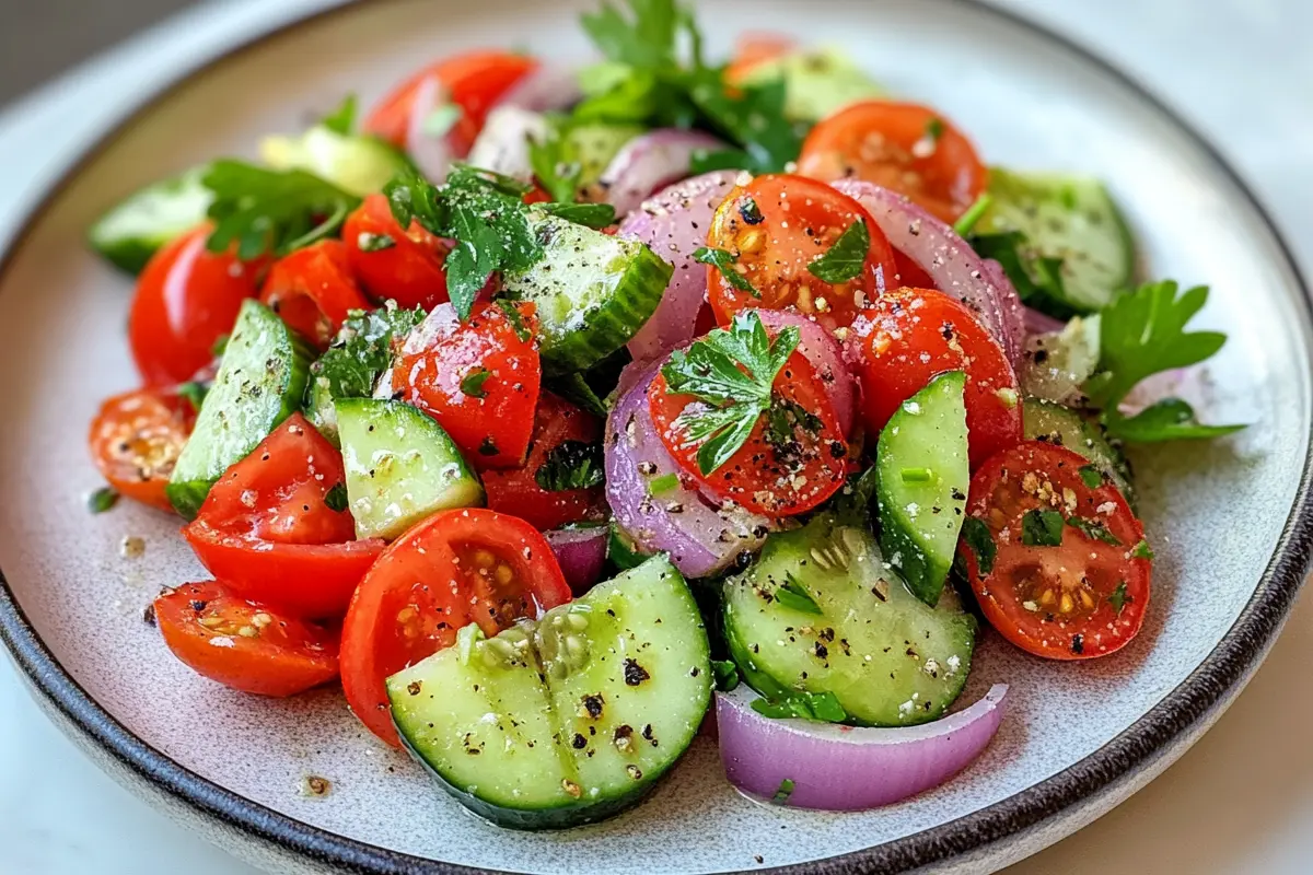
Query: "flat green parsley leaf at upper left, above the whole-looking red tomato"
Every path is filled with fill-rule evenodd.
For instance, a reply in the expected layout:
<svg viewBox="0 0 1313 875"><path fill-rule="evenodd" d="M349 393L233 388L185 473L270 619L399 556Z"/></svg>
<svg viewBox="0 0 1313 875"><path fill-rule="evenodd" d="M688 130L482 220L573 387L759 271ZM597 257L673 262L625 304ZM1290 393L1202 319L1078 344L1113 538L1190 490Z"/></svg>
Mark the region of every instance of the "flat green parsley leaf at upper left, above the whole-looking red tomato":
<svg viewBox="0 0 1313 875"><path fill-rule="evenodd" d="M242 261L268 252L286 254L337 232L360 198L306 171L270 171L244 161L221 159L201 184L214 201L206 215L214 230L210 252L232 243Z"/></svg>

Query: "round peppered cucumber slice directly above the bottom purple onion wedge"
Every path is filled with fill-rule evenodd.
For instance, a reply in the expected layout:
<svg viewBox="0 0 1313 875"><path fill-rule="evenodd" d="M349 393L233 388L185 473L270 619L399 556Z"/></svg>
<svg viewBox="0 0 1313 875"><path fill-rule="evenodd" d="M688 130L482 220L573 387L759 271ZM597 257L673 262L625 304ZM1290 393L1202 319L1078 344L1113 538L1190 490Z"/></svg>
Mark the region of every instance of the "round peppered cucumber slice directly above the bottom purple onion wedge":
<svg viewBox="0 0 1313 875"><path fill-rule="evenodd" d="M781 600L785 588L792 597ZM723 619L748 686L771 698L832 693L859 725L940 716L962 691L976 641L952 588L926 605L869 531L830 513L769 535L756 561L725 581Z"/></svg>

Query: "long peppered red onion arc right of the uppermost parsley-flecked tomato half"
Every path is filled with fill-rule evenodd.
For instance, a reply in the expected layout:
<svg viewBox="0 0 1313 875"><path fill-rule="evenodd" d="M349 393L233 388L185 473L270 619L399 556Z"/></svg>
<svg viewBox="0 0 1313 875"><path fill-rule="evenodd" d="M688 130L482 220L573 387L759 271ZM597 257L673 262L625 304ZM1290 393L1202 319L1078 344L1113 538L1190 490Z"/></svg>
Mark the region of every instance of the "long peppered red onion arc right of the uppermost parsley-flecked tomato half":
<svg viewBox="0 0 1313 875"><path fill-rule="evenodd" d="M897 192L861 180L839 180L834 188L861 202L895 248L979 317L1014 366L1022 361L1023 311L1011 282L999 285L993 270L951 227ZM1006 281L1006 277L1003 277Z"/></svg>

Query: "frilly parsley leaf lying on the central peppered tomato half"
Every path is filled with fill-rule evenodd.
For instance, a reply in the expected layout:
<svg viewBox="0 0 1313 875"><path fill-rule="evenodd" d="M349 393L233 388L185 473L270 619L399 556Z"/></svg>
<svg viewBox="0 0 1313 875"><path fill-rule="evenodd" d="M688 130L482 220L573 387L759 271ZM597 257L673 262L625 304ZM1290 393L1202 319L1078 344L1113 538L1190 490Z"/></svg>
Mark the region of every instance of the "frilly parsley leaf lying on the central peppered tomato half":
<svg viewBox="0 0 1313 875"><path fill-rule="evenodd" d="M790 325L772 341L752 311L739 312L729 329L717 328L688 352L676 350L662 367L670 395L692 395L675 418L692 443L700 443L697 467L710 474L747 442L758 418L771 407L776 375L798 345ZM709 405L709 407L708 407Z"/></svg>

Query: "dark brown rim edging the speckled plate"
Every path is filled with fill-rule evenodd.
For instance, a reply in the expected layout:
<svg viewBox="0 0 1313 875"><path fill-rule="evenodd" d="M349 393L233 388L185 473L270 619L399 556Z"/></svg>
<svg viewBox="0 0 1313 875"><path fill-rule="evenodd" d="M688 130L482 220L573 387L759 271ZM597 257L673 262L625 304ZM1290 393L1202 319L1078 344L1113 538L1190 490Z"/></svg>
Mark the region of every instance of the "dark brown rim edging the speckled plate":
<svg viewBox="0 0 1313 875"><path fill-rule="evenodd" d="M47 209L74 185L91 161L158 102L215 66L232 60L249 49L277 39L307 22L349 9L358 1L324 0L324 5L320 8L273 24L235 45L225 46L219 41L218 47L210 54L180 66L173 77L161 81L158 89L144 93L134 106L105 125L100 135L74 160L68 161L56 181L46 186L45 193L37 198L35 206L30 207L17 223L17 231L0 254L0 279L8 272L14 253L22 247ZM1308 283L1288 244L1249 185L1211 142L1140 81L1067 37L1022 14L982 0L951 1L974 5L1012 26L1049 41L1136 94L1175 126L1211 159L1213 168L1236 188L1239 197L1247 201L1254 210L1259 223L1276 245L1284 268L1302 293L1305 321L1313 324L1313 299L1309 296ZM1199 668L1120 735L1058 774L939 826L838 857L754 871L781 875L906 872L936 865L951 865L955 858L974 857L1006 840L1018 838L1035 830L1045 821L1065 820L1071 824L1070 829L1083 825L1086 820L1092 819L1092 816L1086 816L1092 802L1102 796L1113 795L1119 788L1123 790L1123 795L1137 790L1146 782L1146 779L1136 781L1137 775L1141 778L1157 775L1170 760L1180 756L1190 744L1196 741L1209 723L1234 701L1275 641L1293 605L1295 596L1304 582L1310 554L1313 554L1313 436L1310 436L1309 451L1304 459L1291 514L1254 596ZM416 875L420 872L481 875L491 871L391 851L319 829L251 802L181 766L165 753L137 737L70 676L29 622L4 577L3 569L0 569L0 640L4 641L9 655L22 670L33 694L43 706L55 712L51 716L62 729L83 736L84 740L91 741L101 752L126 766L134 778L148 782L156 791L181 803L192 813L215 825L236 828L251 838L268 842L306 861L335 867L339 871L368 875ZM1102 813L1102 811L1096 813ZM1043 844L1057 841L1067 832L1057 830ZM1028 847L1024 854L1037 851L1040 846Z"/></svg>

